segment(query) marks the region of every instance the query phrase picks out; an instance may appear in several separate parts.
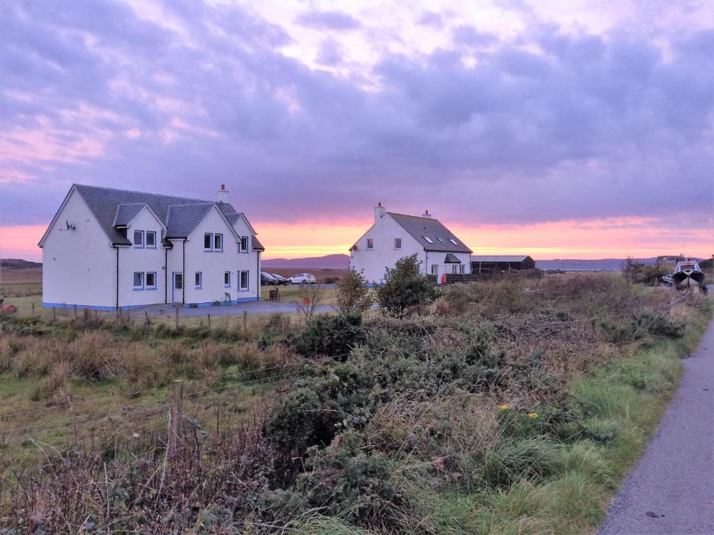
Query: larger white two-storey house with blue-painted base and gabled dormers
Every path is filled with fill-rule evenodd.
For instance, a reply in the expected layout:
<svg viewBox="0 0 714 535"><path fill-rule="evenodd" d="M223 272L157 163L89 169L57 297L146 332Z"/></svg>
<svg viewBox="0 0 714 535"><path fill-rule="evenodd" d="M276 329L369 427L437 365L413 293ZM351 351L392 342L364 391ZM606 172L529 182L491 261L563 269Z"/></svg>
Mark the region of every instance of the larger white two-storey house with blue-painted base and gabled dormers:
<svg viewBox="0 0 714 535"><path fill-rule="evenodd" d="M260 299L263 246L218 200L74 184L40 240L46 307L116 310Z"/></svg>

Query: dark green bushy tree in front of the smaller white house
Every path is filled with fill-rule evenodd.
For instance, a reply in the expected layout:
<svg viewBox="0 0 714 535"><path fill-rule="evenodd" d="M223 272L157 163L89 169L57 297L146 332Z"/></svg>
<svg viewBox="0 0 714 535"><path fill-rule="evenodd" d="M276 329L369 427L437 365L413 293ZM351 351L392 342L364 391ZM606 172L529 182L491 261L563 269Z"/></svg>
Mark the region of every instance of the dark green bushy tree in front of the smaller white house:
<svg viewBox="0 0 714 535"><path fill-rule="evenodd" d="M387 267L384 284L377 288L379 306L389 315L403 316L410 307L426 305L438 295L438 290L421 273L416 254L397 260Z"/></svg>

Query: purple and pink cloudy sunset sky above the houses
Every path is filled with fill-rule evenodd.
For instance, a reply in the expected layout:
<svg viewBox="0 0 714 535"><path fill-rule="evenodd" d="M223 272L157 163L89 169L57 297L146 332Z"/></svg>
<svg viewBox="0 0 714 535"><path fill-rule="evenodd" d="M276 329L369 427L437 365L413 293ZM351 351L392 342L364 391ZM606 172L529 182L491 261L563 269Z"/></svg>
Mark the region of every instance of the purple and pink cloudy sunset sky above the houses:
<svg viewBox="0 0 714 535"><path fill-rule="evenodd" d="M0 3L0 257L72 183L216 198L265 258L373 206L476 254L714 253L714 2Z"/></svg>

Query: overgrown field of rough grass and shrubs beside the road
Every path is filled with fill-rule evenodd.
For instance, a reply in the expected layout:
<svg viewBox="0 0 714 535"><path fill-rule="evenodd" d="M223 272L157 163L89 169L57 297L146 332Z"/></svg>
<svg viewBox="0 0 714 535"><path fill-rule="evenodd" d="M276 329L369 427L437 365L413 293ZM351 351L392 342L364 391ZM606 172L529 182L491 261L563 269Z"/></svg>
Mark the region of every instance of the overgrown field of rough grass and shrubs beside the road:
<svg viewBox="0 0 714 535"><path fill-rule="evenodd" d="M0 517L48 532L89 518L116 533L592 533L710 315L703 295L610 274L455 285L418 315L357 323L6 317Z"/></svg>

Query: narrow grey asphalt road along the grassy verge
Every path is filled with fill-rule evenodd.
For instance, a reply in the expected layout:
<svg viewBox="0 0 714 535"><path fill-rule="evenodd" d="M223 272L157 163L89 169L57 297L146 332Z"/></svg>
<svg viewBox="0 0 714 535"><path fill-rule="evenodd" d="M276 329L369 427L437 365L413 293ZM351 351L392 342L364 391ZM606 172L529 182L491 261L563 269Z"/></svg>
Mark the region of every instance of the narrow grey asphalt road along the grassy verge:
<svg viewBox="0 0 714 535"><path fill-rule="evenodd" d="M714 534L714 322L598 535Z"/></svg>

